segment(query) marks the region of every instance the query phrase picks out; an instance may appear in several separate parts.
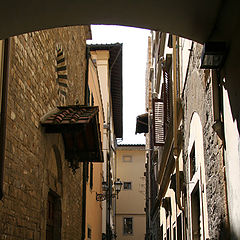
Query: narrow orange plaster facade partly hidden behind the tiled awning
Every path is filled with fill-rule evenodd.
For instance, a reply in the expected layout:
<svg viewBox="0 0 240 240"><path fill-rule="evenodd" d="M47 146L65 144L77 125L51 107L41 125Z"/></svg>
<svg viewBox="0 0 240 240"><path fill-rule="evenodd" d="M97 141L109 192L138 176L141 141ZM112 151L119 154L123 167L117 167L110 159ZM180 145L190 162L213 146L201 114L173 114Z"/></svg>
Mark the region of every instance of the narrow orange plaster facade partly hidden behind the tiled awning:
<svg viewBox="0 0 240 240"><path fill-rule="evenodd" d="M88 51L88 50L87 50ZM88 56L88 105L99 108L99 127L103 142L103 97L98 69L90 54ZM96 199L96 192L102 192L103 163L87 163L86 166L86 225L85 239L102 239L102 204Z"/></svg>

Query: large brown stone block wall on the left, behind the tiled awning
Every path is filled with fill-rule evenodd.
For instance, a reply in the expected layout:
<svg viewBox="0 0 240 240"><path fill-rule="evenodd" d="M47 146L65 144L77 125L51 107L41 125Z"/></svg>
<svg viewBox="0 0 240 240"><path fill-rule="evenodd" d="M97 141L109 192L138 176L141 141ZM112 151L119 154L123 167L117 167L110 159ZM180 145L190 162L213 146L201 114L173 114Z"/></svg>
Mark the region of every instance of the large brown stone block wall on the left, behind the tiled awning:
<svg viewBox="0 0 240 240"><path fill-rule="evenodd" d="M58 105L84 103L87 30L67 27L11 38L0 239L45 239L50 190L61 200L62 239L81 238L82 168L73 175L61 135L44 133L40 118ZM66 65L65 99L56 69L59 49Z"/></svg>

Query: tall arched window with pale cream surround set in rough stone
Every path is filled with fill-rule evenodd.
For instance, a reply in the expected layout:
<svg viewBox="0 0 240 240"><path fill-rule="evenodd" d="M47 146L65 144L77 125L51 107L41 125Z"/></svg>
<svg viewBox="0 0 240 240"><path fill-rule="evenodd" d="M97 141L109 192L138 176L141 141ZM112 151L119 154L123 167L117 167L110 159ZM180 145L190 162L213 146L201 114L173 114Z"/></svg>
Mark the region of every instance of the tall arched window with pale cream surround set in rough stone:
<svg viewBox="0 0 240 240"><path fill-rule="evenodd" d="M208 238L203 130L200 117L194 113L190 123L188 145L189 219L193 240Z"/></svg>

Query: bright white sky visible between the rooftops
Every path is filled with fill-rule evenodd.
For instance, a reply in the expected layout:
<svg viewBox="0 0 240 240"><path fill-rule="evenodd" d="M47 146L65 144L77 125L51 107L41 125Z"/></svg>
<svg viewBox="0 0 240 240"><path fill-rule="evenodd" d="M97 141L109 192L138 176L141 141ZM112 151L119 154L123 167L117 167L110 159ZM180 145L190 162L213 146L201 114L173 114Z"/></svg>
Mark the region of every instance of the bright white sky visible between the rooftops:
<svg viewBox="0 0 240 240"><path fill-rule="evenodd" d="M145 71L149 30L92 25L88 44L123 43L123 142L145 143L143 134L135 135L136 117L145 113Z"/></svg>

